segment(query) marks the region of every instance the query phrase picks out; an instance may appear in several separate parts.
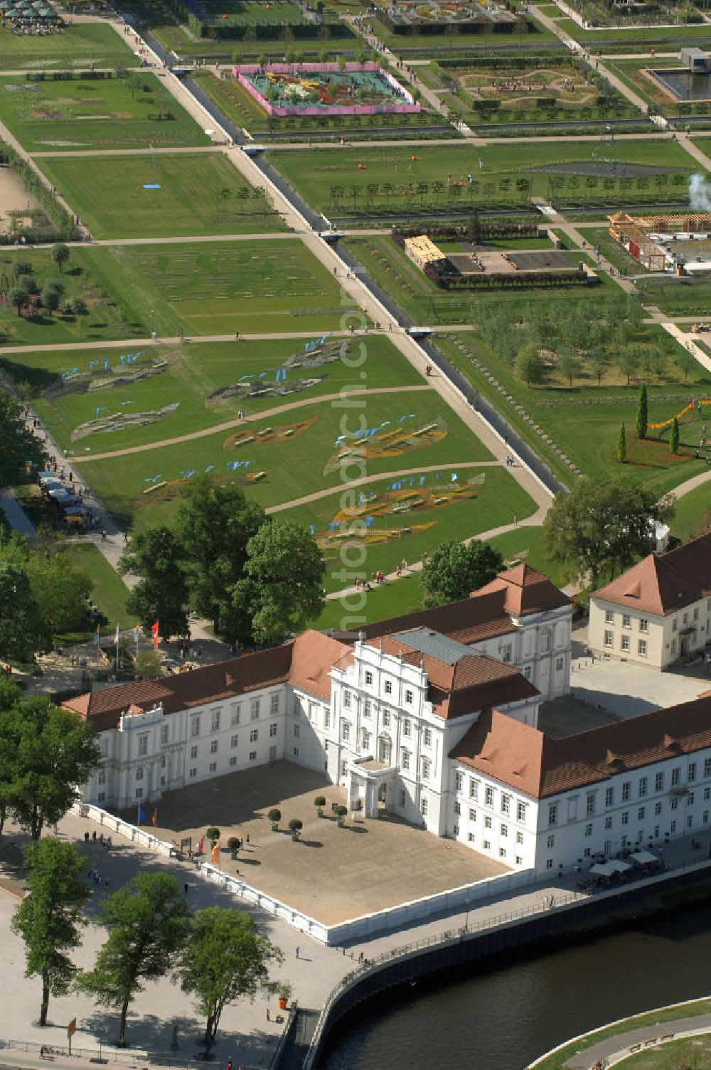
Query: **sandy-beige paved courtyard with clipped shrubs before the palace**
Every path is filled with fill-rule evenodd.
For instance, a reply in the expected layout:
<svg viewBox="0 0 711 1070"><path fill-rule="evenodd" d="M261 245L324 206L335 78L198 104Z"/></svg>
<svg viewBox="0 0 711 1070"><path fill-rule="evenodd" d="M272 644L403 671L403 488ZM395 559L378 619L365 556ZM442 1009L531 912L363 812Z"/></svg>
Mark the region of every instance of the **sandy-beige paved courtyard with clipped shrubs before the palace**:
<svg viewBox="0 0 711 1070"><path fill-rule="evenodd" d="M324 817L313 805L320 794L326 798ZM324 924L507 872L463 843L440 840L391 814L376 821L358 814L354 822L349 813L339 828L333 802L345 802L342 789L311 769L276 762L168 792L157 804L156 835L176 843L189 836L195 847L205 828L216 825L226 873L238 873ZM281 810L278 832L266 816L272 807ZM136 820L135 812L122 816ZM288 828L292 817L304 822L297 842ZM245 841L236 861L227 851L231 836Z"/></svg>

